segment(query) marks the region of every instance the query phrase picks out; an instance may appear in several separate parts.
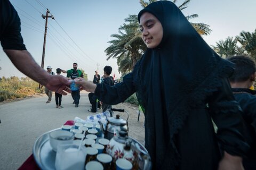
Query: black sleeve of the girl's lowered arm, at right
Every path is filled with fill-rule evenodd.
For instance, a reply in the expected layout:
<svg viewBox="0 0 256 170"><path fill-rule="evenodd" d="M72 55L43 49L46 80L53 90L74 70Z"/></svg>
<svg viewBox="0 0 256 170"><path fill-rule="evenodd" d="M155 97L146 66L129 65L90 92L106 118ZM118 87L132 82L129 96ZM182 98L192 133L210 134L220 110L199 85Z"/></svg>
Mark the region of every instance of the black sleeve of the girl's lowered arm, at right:
<svg viewBox="0 0 256 170"><path fill-rule="evenodd" d="M209 108L214 123L217 125L217 138L222 150L231 155L244 156L249 150L245 142L243 112L235 100L227 79L222 79L223 86L209 101Z"/></svg>

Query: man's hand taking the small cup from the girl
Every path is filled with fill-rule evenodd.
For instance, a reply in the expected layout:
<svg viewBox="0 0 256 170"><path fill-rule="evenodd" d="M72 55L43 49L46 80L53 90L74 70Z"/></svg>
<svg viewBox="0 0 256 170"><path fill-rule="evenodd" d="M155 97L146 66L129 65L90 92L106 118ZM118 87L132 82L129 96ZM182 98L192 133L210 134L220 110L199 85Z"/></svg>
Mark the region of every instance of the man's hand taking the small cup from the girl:
<svg viewBox="0 0 256 170"><path fill-rule="evenodd" d="M49 75L49 79L45 87L51 91L58 92L58 94L67 95L67 92L71 92L67 87L70 83L71 82L68 81L68 78L61 75Z"/></svg>

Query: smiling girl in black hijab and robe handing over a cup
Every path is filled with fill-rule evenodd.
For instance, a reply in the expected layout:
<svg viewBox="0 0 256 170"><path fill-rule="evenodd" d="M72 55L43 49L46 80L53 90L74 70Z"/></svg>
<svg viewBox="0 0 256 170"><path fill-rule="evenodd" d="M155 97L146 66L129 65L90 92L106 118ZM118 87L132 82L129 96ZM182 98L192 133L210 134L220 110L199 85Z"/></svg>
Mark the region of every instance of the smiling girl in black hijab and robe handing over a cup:
<svg viewBox="0 0 256 170"><path fill-rule="evenodd" d="M170 1L149 4L138 20L147 50L123 82L76 83L112 105L137 92L153 169L243 169L250 147L228 82L233 64L215 53Z"/></svg>

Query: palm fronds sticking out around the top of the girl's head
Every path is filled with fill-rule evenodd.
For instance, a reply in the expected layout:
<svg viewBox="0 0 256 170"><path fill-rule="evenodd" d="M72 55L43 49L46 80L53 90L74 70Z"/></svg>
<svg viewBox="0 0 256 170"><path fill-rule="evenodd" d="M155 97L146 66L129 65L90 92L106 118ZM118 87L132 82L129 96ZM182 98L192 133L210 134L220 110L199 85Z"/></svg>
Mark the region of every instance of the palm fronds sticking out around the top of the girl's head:
<svg viewBox="0 0 256 170"><path fill-rule="evenodd" d="M141 6L144 8L146 7L147 5L153 3L153 2L156 2L157 0L149 0L148 2L147 1L144 1L144 0L140 0L140 4ZM177 0L173 0L172 1L173 3L176 3ZM179 7L179 9L182 11L184 10L185 8L188 7L188 3L190 2L190 0L185 0ZM197 18L198 17L198 14L192 14L192 15L188 15L186 16L187 20L190 20L190 19L193 19L193 18ZM209 35L210 32L212 31L209 27L210 25L207 25L205 23L193 23L193 22L190 22L191 25L193 25L193 27L196 29L196 31L199 33L199 35Z"/></svg>

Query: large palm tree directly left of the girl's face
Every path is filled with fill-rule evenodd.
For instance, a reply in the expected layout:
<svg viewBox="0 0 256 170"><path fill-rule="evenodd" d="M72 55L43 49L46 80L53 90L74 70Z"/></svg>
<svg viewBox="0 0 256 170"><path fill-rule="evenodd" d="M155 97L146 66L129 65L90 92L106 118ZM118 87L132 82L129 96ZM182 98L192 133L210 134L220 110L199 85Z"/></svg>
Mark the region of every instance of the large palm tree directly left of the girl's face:
<svg viewBox="0 0 256 170"><path fill-rule="evenodd" d="M130 72L136 62L140 59L146 49L140 35L140 27L137 15L130 15L118 30L119 34L113 34L114 40L109 41L111 45L105 49L107 60L117 58L119 72Z"/></svg>

